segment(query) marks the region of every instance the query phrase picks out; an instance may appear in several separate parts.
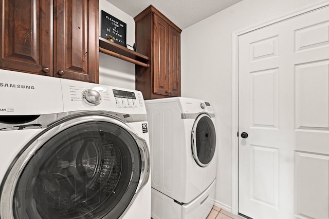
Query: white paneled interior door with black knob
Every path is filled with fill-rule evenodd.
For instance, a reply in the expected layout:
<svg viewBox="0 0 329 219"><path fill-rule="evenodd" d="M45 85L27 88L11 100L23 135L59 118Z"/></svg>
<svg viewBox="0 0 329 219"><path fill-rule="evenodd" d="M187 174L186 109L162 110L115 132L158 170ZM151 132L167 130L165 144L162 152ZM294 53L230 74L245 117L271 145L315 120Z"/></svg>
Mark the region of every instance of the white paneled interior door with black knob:
<svg viewBox="0 0 329 219"><path fill-rule="evenodd" d="M238 41L239 213L329 218L329 7Z"/></svg>

